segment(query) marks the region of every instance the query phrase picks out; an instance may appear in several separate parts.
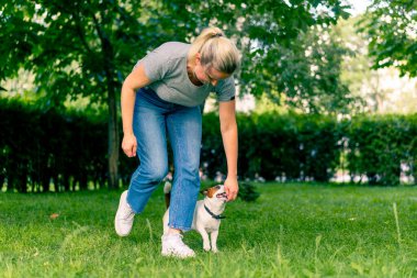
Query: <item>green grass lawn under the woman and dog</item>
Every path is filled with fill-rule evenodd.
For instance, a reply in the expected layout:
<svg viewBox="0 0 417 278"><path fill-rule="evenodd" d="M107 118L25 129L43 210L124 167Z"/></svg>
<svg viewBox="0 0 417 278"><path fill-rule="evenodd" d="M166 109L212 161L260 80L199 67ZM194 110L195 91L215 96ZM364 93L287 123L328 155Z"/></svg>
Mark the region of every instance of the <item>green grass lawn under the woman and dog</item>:
<svg viewBox="0 0 417 278"><path fill-rule="evenodd" d="M160 256L161 189L124 238L120 191L0 193L0 277L417 277L416 188L258 188L226 207L221 253L190 232L185 260Z"/></svg>

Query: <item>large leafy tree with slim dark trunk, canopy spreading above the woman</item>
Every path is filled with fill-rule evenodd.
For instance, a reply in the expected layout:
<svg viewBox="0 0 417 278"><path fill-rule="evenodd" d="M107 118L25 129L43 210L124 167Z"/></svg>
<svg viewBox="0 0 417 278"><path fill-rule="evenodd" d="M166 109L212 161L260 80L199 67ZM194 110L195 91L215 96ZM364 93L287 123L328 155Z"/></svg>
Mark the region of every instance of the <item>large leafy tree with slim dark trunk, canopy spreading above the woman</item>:
<svg viewBox="0 0 417 278"><path fill-rule="evenodd" d="M109 186L114 188L119 186L119 91L124 77L146 51L166 41L190 42L202 27L217 25L243 49L240 84L247 92L291 93L293 75L291 70L282 75L286 56L281 49L295 47L298 34L311 26L330 24L347 15L348 7L341 3L2 0L0 81L15 77L24 68L35 75L37 92L45 94L47 109L63 108L67 96L88 96L91 101L108 105ZM317 97L312 90L300 90L298 94L303 102L313 102Z"/></svg>

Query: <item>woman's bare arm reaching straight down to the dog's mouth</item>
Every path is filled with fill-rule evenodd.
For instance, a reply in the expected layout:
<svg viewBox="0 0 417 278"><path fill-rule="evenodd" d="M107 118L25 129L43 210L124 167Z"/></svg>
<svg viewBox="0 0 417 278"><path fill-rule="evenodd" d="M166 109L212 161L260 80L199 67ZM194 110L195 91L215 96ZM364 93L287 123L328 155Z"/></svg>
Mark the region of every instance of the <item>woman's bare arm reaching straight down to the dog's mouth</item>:
<svg viewBox="0 0 417 278"><path fill-rule="evenodd" d="M227 160L227 178L225 180L225 190L227 199L233 201L237 197L239 186L237 182L237 124L235 113L235 100L219 102L219 120L223 146Z"/></svg>

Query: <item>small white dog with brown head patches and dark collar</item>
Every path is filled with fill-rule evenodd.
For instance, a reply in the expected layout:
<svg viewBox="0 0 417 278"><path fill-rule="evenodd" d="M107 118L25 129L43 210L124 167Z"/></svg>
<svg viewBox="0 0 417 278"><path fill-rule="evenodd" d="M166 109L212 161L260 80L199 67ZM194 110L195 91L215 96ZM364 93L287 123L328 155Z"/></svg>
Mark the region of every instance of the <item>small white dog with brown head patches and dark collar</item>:
<svg viewBox="0 0 417 278"><path fill-rule="evenodd" d="M170 202L171 184L167 181L164 187L167 211L164 215L164 234L168 232L169 223L169 202ZM221 226L222 213L225 210L227 196L223 185L208 188L201 191L205 198L196 202L194 218L191 229L198 231L203 237L204 251L217 253L217 236ZM208 233L212 237L210 244Z"/></svg>

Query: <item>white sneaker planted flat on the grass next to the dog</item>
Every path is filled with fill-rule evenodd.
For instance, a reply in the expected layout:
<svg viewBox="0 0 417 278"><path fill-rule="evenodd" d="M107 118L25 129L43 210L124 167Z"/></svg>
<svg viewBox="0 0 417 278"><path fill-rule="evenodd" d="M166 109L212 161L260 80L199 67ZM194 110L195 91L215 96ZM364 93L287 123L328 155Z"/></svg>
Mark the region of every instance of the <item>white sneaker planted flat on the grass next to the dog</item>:
<svg viewBox="0 0 417 278"><path fill-rule="evenodd" d="M195 257L195 253L182 242L181 234L162 235L162 256L178 258Z"/></svg>

